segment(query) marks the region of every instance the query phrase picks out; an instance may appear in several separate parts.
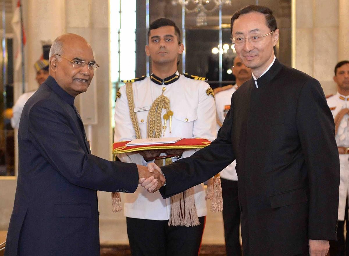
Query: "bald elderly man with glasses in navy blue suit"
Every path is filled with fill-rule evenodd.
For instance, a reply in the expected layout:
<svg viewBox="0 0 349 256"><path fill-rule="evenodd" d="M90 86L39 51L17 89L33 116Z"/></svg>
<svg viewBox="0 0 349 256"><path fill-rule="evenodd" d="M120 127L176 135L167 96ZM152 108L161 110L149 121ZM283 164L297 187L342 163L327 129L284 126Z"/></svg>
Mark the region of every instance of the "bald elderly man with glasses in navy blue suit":
<svg viewBox="0 0 349 256"><path fill-rule="evenodd" d="M74 106L98 67L86 40L58 37L49 61L50 76L25 104L20 120L18 182L5 255L99 255L96 190L134 192L150 173L90 152Z"/></svg>

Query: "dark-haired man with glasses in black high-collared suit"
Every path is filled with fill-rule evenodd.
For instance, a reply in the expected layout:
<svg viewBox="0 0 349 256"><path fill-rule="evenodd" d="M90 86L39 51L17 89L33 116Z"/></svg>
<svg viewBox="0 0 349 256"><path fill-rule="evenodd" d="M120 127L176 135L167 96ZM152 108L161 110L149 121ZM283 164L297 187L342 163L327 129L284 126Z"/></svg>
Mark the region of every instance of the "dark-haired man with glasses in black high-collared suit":
<svg viewBox="0 0 349 256"><path fill-rule="evenodd" d="M319 82L275 58L272 13L247 6L232 16L232 42L253 78L232 95L211 145L161 167L160 191L172 196L236 159L244 256L325 256L338 214L333 117Z"/></svg>

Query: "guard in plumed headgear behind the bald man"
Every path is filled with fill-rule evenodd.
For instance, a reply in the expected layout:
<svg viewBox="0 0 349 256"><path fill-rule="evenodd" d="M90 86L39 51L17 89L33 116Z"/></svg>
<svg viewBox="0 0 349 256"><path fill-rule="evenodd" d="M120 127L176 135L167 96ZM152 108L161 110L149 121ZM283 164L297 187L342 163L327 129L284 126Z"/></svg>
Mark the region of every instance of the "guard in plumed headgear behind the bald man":
<svg viewBox="0 0 349 256"><path fill-rule="evenodd" d="M36 71L35 80L38 82L38 85L40 86L45 80L49 77L49 54L50 54L50 48L51 44L44 44L43 45L43 55L42 57L34 63L34 68ZM18 97L18 100L16 101L15 105L13 106L13 116L11 118L11 125L14 129L18 129L18 126L20 124L20 118L22 114L22 110L24 107L25 102L29 100L29 98L36 92L30 91L27 93L23 93L20 97Z"/></svg>

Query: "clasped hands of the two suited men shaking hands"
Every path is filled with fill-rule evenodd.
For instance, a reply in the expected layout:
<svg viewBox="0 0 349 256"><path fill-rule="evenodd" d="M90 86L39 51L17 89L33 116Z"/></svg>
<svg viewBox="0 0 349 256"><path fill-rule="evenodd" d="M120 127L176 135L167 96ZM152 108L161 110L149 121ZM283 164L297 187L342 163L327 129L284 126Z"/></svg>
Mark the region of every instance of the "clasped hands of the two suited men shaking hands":
<svg viewBox="0 0 349 256"><path fill-rule="evenodd" d="M154 193L165 184L165 177L160 167L155 163L149 163L147 167L137 164L137 168L139 177L138 184L141 184L149 193Z"/></svg>

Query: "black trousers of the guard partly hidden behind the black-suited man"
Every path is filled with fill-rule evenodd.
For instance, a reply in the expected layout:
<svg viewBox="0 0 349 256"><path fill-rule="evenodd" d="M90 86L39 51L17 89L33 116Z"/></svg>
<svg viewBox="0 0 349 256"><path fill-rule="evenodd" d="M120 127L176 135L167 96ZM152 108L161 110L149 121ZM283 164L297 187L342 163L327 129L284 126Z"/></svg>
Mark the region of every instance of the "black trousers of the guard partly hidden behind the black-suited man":
<svg viewBox="0 0 349 256"><path fill-rule="evenodd" d="M221 178L223 196L224 238L227 256L241 256L239 241L240 207L238 182Z"/></svg>

